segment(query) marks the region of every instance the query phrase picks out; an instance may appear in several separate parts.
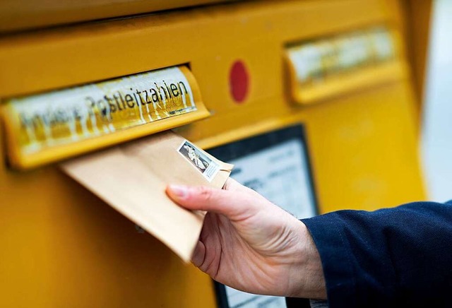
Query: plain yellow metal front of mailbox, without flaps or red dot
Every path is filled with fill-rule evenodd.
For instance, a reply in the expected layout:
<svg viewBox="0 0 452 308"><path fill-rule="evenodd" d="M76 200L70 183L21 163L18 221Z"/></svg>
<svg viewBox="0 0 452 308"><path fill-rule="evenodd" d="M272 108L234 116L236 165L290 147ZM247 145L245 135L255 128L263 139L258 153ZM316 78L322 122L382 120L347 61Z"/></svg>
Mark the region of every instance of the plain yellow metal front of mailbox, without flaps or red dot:
<svg viewBox="0 0 452 308"><path fill-rule="evenodd" d="M396 206L424 199L405 56L398 78L309 106L290 99L283 59L292 42L370 25L399 31L390 7L251 1L5 36L0 97L188 63L212 116L180 134L208 148L303 123L323 213ZM237 59L250 78L242 104L229 89ZM15 172L1 163L0 204L0 307L215 307L207 276L55 165Z"/></svg>

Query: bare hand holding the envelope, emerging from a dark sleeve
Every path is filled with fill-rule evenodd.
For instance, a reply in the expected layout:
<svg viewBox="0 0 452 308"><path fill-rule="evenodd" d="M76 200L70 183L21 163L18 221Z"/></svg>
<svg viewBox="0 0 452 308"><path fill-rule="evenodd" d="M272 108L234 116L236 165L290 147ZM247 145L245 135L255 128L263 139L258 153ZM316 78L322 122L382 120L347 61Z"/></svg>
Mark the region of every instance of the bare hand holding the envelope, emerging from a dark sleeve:
<svg viewBox="0 0 452 308"><path fill-rule="evenodd" d="M184 208L208 211L192 262L214 280L256 294L326 299L311 235L282 208L233 179L223 189L166 191Z"/></svg>

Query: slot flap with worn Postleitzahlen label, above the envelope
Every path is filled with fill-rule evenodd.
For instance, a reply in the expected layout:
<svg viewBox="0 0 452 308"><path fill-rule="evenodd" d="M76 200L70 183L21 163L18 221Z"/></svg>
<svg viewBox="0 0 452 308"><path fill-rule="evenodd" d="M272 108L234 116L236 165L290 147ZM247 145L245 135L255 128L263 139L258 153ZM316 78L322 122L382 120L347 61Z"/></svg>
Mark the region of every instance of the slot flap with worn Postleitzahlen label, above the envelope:
<svg viewBox="0 0 452 308"><path fill-rule="evenodd" d="M6 100L8 161L26 169L208 117L186 65Z"/></svg>

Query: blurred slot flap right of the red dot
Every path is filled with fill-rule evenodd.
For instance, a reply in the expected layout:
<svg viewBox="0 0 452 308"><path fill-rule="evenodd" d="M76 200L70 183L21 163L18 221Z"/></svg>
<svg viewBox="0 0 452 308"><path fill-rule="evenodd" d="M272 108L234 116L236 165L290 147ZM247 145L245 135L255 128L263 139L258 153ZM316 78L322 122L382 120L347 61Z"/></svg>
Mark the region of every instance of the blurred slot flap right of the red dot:
<svg viewBox="0 0 452 308"><path fill-rule="evenodd" d="M292 100L311 104L400 78L397 42L397 32L380 25L287 45Z"/></svg>

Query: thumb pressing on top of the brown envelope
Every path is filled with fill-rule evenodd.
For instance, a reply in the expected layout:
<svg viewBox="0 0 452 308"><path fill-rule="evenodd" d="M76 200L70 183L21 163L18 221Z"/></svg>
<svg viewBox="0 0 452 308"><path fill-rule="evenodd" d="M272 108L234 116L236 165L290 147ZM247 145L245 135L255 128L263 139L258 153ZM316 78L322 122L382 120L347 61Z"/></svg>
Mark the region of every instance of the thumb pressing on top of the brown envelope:
<svg viewBox="0 0 452 308"><path fill-rule="evenodd" d="M255 199L241 190L170 184L166 192L169 198L184 208L222 214L232 221L240 220L256 209Z"/></svg>

